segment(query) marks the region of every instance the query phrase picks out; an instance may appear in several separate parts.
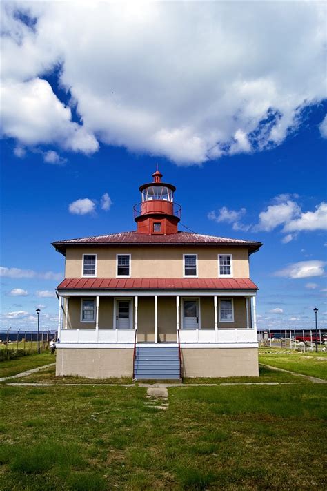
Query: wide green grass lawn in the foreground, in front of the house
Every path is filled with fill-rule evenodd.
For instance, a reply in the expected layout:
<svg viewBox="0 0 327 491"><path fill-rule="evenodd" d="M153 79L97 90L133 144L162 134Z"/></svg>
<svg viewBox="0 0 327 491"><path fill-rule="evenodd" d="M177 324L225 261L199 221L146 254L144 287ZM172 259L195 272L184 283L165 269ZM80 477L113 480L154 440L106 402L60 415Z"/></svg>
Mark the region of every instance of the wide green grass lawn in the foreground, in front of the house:
<svg viewBox="0 0 327 491"><path fill-rule="evenodd" d="M1 387L0 489L321 490L327 387ZM325 411L325 412L324 412Z"/></svg>

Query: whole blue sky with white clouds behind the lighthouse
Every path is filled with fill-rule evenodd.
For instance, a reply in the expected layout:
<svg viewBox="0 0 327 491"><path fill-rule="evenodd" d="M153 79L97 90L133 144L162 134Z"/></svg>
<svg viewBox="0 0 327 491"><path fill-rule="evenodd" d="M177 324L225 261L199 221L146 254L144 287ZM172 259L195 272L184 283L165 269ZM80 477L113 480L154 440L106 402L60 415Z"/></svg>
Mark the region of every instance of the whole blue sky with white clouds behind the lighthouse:
<svg viewBox="0 0 327 491"><path fill-rule="evenodd" d="M184 67L181 75L175 74L177 61L173 60L169 77L163 75L165 64L161 66L148 50L139 48L137 56L141 68L152 66L151 77L145 77L131 60L136 57L133 41L139 24L135 23L141 23L145 37L155 39L158 12L153 9L164 9L159 10L164 17L158 36L164 41L168 32L177 43L163 42L157 50L172 56L177 46L177 55L183 59L178 48L184 42L192 47L195 23L206 25L212 18L224 18L224 9L231 8L226 4L224 9L188 6L182 14L178 6L151 6L144 18L123 18L121 31L112 30L112 38L105 41L100 36L101 25L98 34L92 22L86 22L86 39L101 46L97 53L89 54L86 49L83 63L78 46L72 46L69 37L54 41L38 34L44 36L44 30L38 29L41 23L48 25L48 19L66 32L67 19L60 5L30 4L28 10L26 5L20 17L9 6L5 18L9 34L4 44L8 75L1 142L2 326L33 328L39 307L41 325L56 327L54 288L63 273L64 258L50 242L135 229L132 206L140 199L138 187L150 180L158 163L164 180L177 186L175 200L182 206L181 222L186 227L198 233L264 242L250 261L251 278L260 288L260 327L310 327L314 307L319 309L319 325L326 327L327 131L323 122L327 103L326 88L321 88L318 76L324 75L324 59L319 57L320 46L315 45L317 35L313 35L320 12L306 10L308 6L302 11L301 7L294 23L283 27L276 8L272 22L276 30L277 26L284 28L293 41L303 36L303 42L313 43L311 52L294 61L290 44L285 56L293 66L281 66L280 52L275 53L272 45L261 46L261 41L268 41L257 28L252 41L258 52L270 50L270 66L267 68L260 53L241 68L231 56L230 66L235 70L230 68L228 80L216 80L217 90L212 85L215 69L228 66L221 57L209 59L212 72L190 57L192 70L188 73ZM209 20L208 8L215 9ZM258 6L248 12L248 32L256 16L263 14L261 9ZM81 10L75 12L77 17ZM125 15L105 10L103 17L110 19L109 13ZM264 15L271 17L272 13ZM299 29L301 15L307 20ZM179 39L182 25L184 37ZM206 27L215 36L224 34L226 49L232 50L232 40L219 22L214 23L213 31L212 26ZM240 34L236 21L229 27L247 39L243 25ZM106 52L106 43L111 43L112 50L103 57L101 49ZM206 52L200 45L199 60L201 48ZM130 61L128 70L125 59ZM86 68L86 61L92 66ZM107 65L104 72L103 64ZM153 70L156 64L159 80ZM316 68L316 79L310 75L310 64ZM294 78L288 73L292 71ZM97 75L94 79L92 72ZM194 82L194 72L201 79L200 87ZM126 84L126 77L134 77L133 84ZM179 77L185 79L183 84L194 85L181 86ZM226 81L230 86L236 84L234 93L228 92ZM146 90L141 90L141 84ZM240 90L242 96L237 99ZM157 93L175 100L167 102L164 97L162 102ZM216 113L212 113L215 105ZM153 134L152 126L156 126ZM106 193L103 209L101 198Z"/></svg>

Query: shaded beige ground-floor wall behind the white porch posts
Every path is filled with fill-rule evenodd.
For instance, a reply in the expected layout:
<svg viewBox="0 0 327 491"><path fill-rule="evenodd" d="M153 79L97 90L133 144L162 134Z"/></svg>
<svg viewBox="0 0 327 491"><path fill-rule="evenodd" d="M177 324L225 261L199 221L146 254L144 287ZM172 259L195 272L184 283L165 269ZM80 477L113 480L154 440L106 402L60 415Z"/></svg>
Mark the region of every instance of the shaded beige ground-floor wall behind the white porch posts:
<svg viewBox="0 0 327 491"><path fill-rule="evenodd" d="M70 297L68 303L68 328L70 329L95 329L95 322L81 322L81 298L94 297ZM121 298L121 297L120 297ZM180 298L179 326L182 327L183 299ZM196 297L190 297L196 298ZM221 297L225 298L225 297ZM121 298L122 299L122 298ZM215 310L213 296L199 297L200 316L199 327L201 329L215 328ZM217 298L219 305L219 297ZM99 298L99 329L113 328L113 312L115 298L113 296L101 296ZM218 322L221 329L245 329L246 328L246 300L244 297L234 297L234 322ZM250 302L249 302L250 305ZM134 301L131 303L132 325L135 327ZM138 340L155 340L155 297L139 296L138 306ZM249 310L250 322L250 310ZM219 310L217 311L219 319ZM65 320L64 320L65 322ZM251 327L251 323L249 323ZM158 334L159 341L176 340L176 297L158 297Z"/></svg>

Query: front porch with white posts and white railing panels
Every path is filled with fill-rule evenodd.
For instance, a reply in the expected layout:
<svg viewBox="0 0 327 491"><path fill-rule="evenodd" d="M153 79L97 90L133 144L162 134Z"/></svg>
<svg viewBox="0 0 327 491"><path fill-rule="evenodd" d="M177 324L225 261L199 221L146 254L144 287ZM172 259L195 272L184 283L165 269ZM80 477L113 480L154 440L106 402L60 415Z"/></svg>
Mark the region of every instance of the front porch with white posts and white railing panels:
<svg viewBox="0 0 327 491"><path fill-rule="evenodd" d="M255 294L149 292L59 297L62 347L257 346ZM252 293L252 292L251 292Z"/></svg>

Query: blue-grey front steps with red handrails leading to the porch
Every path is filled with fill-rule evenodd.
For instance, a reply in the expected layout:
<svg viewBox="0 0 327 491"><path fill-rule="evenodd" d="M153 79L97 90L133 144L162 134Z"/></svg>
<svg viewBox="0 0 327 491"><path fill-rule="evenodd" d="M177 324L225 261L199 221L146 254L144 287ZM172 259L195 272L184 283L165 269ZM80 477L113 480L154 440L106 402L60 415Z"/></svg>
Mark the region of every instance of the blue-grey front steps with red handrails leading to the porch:
<svg viewBox="0 0 327 491"><path fill-rule="evenodd" d="M179 380L178 345L137 345L136 380Z"/></svg>

